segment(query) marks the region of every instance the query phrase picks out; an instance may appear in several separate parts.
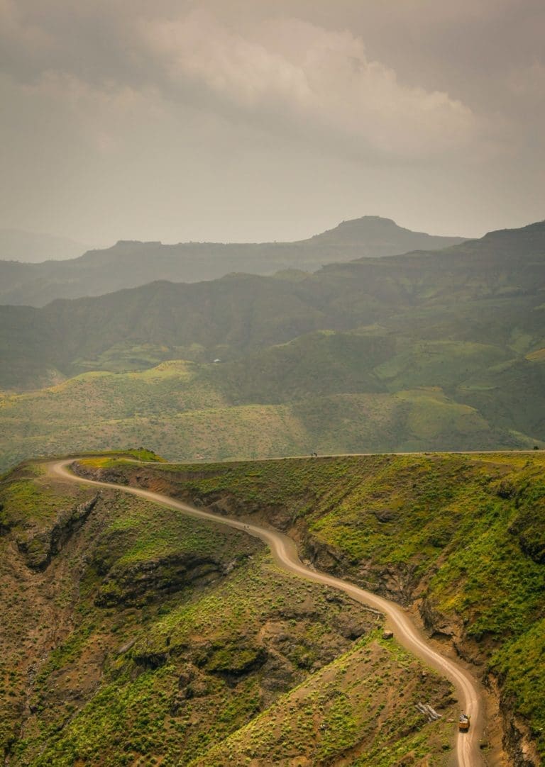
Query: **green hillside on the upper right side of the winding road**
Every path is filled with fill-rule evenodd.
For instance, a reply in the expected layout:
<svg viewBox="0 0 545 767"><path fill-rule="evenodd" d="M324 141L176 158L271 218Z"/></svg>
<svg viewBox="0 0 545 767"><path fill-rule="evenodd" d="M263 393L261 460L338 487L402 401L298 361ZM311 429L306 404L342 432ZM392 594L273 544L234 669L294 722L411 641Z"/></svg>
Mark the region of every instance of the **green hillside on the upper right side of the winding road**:
<svg viewBox="0 0 545 767"><path fill-rule="evenodd" d="M96 469L96 463L94 467ZM105 460L295 536L322 569L413 605L497 685L505 744L545 756L545 456L361 456L157 466ZM518 745L517 745L518 744ZM532 745L533 744L533 745Z"/></svg>

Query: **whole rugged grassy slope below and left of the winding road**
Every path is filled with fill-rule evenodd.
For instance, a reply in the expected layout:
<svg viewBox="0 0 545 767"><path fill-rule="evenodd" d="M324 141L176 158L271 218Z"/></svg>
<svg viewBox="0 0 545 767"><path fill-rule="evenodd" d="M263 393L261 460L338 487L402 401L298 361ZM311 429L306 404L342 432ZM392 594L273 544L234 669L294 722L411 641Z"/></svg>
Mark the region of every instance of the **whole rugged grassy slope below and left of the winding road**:
<svg viewBox="0 0 545 767"><path fill-rule="evenodd" d="M450 685L242 532L27 463L0 482L0 549L10 765L448 763Z"/></svg>

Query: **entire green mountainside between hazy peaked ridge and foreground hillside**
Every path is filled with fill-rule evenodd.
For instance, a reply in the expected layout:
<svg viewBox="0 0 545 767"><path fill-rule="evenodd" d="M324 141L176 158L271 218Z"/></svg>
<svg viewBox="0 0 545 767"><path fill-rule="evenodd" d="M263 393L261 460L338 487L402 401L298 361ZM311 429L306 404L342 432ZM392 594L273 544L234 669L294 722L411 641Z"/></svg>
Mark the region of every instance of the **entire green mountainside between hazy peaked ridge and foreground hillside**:
<svg viewBox="0 0 545 767"><path fill-rule="evenodd" d="M545 446L544 295L539 222L312 274L2 306L0 432L17 451L4 449Z"/></svg>

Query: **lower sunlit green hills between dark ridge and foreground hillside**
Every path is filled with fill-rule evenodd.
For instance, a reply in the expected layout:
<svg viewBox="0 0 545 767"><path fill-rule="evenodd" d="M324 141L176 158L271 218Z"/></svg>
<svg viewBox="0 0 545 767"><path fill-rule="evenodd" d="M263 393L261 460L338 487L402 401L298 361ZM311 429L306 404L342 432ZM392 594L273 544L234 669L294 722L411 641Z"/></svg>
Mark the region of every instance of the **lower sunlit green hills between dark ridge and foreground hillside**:
<svg viewBox="0 0 545 767"><path fill-rule="evenodd" d="M459 344L451 345L455 363ZM381 362L387 350L374 337L320 334L256 354L249 364L171 361L0 395L0 468L32 455L127 444L149 445L173 460L223 460L535 443L517 431L515 408L497 428L493 407L487 420L463 397L457 401L457 392L449 397L434 386L388 392ZM467 358L475 357L471 348ZM411 380L425 380L422 359L419 370L408 370ZM536 392L534 402L541 396ZM530 406L524 426L537 432Z"/></svg>

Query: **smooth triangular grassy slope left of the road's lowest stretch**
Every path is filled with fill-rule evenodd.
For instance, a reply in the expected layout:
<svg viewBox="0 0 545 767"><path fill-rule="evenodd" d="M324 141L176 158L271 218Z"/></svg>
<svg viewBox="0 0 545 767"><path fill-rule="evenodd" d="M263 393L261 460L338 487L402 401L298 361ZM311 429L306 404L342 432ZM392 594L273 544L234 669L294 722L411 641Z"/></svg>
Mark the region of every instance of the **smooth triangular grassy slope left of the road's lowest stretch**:
<svg viewBox="0 0 545 767"><path fill-rule="evenodd" d="M404 758L447 764L452 725L441 719L423 732L416 709L422 699L440 702L443 713L452 703L448 685L368 634L191 765L227 767L247 759L256 765L296 759L321 765L343 759L391 767Z"/></svg>

